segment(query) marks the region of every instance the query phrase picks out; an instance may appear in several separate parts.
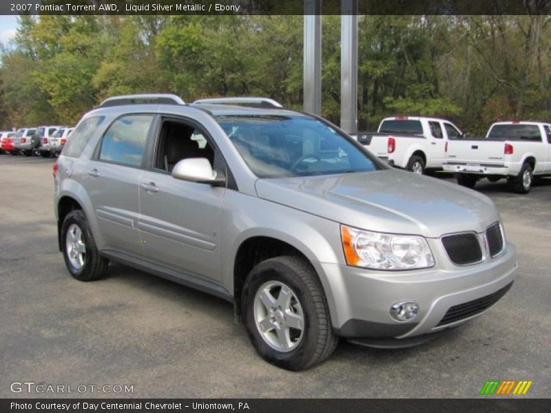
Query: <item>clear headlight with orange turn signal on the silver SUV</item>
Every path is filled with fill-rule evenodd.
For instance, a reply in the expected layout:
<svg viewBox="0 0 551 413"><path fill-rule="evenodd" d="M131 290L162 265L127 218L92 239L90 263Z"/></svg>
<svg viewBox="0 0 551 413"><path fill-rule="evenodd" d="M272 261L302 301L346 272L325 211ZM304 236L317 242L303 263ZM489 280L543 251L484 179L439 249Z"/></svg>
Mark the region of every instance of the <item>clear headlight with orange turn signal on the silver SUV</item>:
<svg viewBox="0 0 551 413"><path fill-rule="evenodd" d="M434 266L424 237L375 233L340 226L346 264L373 270L413 270Z"/></svg>

